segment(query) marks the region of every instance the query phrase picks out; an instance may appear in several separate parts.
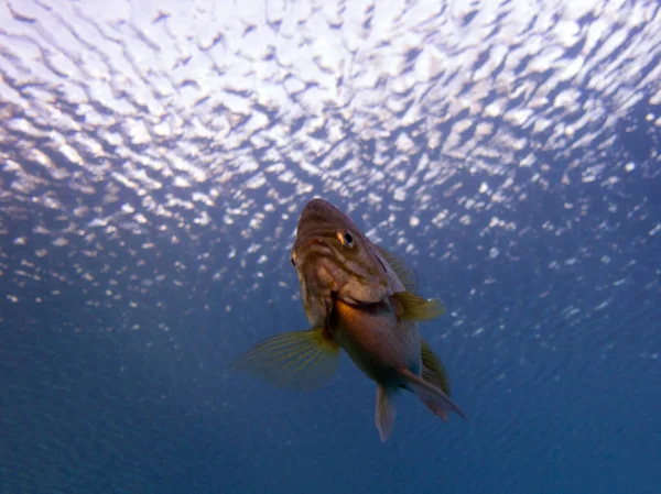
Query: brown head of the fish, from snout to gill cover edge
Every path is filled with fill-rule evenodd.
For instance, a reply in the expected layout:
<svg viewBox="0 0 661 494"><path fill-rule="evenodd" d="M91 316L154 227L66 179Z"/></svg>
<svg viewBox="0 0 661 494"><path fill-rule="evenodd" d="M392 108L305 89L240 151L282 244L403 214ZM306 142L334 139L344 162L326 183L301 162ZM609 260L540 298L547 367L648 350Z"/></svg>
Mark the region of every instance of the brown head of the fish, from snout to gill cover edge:
<svg viewBox="0 0 661 494"><path fill-rule="evenodd" d="M323 199L313 199L303 208L292 264L312 328L325 326L336 299L376 304L392 295L375 245L348 216Z"/></svg>

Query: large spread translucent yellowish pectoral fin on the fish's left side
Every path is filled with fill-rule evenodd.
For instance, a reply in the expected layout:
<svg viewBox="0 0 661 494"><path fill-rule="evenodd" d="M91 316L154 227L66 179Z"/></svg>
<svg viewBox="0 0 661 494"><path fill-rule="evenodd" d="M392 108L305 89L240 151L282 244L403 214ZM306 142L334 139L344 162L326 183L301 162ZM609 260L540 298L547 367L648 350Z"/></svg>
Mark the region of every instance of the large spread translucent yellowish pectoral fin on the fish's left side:
<svg viewBox="0 0 661 494"><path fill-rule="evenodd" d="M339 363L339 344L326 329L285 332L258 343L235 362L237 370L295 389L314 389Z"/></svg>

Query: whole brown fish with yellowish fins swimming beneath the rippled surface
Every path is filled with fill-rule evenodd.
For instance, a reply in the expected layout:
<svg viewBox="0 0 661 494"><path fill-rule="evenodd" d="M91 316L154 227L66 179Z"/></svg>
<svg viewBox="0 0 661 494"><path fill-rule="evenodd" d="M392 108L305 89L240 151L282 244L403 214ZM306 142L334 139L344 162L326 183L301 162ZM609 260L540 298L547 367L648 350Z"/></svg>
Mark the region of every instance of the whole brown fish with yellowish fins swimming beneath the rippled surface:
<svg viewBox="0 0 661 494"><path fill-rule="evenodd" d="M418 294L416 273L371 242L337 207L321 198L301 212L291 251L308 329L277 334L235 360L235 367L285 388L326 383L344 350L376 382L375 425L382 442L395 419L400 391L415 394L443 421L467 420L452 400L445 366L419 322L445 308Z"/></svg>

